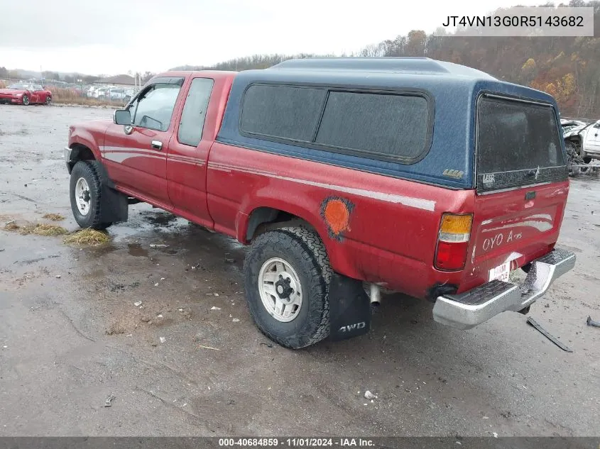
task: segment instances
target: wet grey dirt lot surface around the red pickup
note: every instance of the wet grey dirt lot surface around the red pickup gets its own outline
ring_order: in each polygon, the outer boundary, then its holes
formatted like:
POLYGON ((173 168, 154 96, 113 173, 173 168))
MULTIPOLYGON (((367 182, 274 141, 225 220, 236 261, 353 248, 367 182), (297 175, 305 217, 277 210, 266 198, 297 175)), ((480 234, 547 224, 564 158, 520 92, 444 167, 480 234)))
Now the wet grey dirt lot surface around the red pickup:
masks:
MULTIPOLYGON (((67 127, 110 115, 0 106, 0 227, 77 229, 67 127)), ((285 350, 251 322, 241 245, 146 204, 129 216, 98 248, 0 231, 0 436, 599 435, 598 177, 572 180, 577 265, 530 312, 573 353, 526 316, 458 331, 401 295, 367 336, 285 350)))

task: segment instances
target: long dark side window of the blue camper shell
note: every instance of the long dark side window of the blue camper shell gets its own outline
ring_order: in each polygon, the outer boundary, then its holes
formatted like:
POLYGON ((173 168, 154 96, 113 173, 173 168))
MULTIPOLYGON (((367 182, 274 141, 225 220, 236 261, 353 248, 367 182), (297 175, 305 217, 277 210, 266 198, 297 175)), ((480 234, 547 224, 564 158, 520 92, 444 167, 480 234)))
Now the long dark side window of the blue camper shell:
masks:
POLYGON ((421 160, 430 149, 434 104, 427 92, 295 84, 250 84, 242 135, 388 160, 421 160))

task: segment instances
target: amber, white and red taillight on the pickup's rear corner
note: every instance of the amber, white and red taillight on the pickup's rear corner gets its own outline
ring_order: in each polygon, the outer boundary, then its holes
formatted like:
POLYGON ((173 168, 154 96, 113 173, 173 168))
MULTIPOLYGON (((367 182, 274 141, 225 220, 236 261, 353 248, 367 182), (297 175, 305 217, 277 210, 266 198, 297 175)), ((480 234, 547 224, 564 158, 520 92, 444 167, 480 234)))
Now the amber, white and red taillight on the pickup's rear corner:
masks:
POLYGON ((435 250, 435 267, 438 270, 457 271, 464 268, 472 222, 471 214, 442 215, 435 250))

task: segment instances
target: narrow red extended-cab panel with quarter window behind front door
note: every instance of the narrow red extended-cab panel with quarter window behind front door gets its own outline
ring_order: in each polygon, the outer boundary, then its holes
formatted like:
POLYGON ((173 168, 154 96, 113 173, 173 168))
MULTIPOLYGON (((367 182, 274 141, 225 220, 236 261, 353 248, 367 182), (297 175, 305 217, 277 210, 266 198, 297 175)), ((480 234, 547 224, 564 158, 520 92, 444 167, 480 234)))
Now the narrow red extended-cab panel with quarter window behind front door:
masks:
POLYGON ((204 121, 213 86, 212 78, 192 78, 167 155, 167 186, 175 210, 209 228, 206 172, 214 136, 204 129, 204 121))

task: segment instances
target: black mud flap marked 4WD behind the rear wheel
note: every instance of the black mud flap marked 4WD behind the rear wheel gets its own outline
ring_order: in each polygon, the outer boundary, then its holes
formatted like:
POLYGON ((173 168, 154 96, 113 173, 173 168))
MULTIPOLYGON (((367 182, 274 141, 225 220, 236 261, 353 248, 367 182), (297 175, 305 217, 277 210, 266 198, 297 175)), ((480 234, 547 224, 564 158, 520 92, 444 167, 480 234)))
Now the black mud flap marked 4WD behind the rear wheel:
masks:
POLYGON ((346 340, 371 328, 371 300, 363 283, 334 273, 329 282, 329 339, 346 340))

